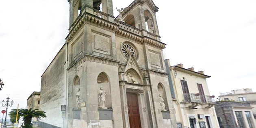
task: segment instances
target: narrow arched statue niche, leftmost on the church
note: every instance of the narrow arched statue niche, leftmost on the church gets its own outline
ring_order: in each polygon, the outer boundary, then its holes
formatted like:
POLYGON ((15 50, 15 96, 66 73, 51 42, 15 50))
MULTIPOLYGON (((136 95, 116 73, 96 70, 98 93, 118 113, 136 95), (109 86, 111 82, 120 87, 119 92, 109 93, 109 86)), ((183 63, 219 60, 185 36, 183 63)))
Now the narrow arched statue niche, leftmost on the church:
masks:
POLYGON ((73 108, 80 108, 80 78, 75 76, 73 80, 73 108))

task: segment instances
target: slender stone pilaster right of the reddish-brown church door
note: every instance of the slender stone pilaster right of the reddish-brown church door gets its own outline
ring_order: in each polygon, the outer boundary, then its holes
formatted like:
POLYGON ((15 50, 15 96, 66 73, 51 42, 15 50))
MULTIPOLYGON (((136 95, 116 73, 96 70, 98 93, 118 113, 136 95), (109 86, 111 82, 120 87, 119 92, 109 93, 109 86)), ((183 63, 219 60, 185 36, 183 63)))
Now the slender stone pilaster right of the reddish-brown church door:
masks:
POLYGON ((148 117, 149 117, 149 121, 150 121, 150 128, 156 128, 156 120, 154 117, 154 108, 153 108, 150 85, 147 85, 145 87, 145 97, 146 97, 146 103, 148 106, 147 109, 148 109, 148 117))

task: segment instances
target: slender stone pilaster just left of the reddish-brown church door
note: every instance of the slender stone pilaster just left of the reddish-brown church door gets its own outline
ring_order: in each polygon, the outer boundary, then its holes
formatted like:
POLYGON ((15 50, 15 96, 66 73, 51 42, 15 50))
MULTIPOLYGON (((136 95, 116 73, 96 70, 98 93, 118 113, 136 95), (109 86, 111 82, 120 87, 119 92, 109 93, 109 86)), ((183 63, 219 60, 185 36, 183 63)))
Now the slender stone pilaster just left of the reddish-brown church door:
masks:
POLYGON ((130 128, 125 82, 126 81, 119 81, 120 96, 121 96, 121 108, 122 108, 122 117, 123 117, 124 128, 130 128))

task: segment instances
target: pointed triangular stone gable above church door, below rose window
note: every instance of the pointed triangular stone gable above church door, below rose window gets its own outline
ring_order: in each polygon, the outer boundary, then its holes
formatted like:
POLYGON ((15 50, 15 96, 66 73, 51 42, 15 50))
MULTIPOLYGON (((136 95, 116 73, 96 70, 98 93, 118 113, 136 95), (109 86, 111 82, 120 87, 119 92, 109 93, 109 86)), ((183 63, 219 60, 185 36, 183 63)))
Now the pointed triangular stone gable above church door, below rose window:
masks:
POLYGON ((133 69, 140 77, 140 82, 137 81, 140 84, 143 84, 143 75, 141 72, 141 69, 139 67, 139 64, 137 63, 135 57, 133 54, 130 54, 130 56, 127 59, 126 66, 124 67, 124 72, 126 73, 129 69, 133 69))

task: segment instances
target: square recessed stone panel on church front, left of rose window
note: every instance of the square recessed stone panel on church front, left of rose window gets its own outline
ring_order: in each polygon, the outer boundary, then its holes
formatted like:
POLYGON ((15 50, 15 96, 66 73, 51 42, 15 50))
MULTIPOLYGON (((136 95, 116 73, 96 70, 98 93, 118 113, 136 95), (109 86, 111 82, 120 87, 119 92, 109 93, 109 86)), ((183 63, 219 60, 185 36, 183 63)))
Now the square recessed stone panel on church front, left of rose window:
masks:
POLYGON ((103 54, 111 54, 111 38, 108 35, 92 32, 94 51, 103 54))

